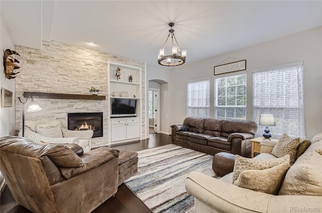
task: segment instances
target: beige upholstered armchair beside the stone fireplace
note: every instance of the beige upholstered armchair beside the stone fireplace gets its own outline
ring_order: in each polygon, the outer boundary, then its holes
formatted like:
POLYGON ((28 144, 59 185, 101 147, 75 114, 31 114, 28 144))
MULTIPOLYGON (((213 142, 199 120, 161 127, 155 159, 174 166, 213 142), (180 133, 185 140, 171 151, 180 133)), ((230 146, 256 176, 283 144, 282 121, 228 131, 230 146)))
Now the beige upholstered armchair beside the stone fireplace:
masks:
MULTIPOLYGON (((93 130, 74 131, 61 127, 58 120, 37 120, 25 122, 25 138, 35 143, 67 144, 75 143, 84 151, 91 150, 93 130)), ((22 136, 20 130, 18 136, 22 136)))

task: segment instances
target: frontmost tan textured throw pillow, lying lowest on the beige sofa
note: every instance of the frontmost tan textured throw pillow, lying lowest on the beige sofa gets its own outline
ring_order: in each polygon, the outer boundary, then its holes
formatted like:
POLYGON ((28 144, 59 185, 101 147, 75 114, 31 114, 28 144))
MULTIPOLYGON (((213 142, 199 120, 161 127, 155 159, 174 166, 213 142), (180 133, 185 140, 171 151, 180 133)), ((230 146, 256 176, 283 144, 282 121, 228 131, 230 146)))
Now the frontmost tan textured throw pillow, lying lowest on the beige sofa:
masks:
POLYGON ((233 184, 254 191, 277 195, 289 168, 289 162, 284 162, 264 170, 244 170, 240 172, 239 177, 233 184))

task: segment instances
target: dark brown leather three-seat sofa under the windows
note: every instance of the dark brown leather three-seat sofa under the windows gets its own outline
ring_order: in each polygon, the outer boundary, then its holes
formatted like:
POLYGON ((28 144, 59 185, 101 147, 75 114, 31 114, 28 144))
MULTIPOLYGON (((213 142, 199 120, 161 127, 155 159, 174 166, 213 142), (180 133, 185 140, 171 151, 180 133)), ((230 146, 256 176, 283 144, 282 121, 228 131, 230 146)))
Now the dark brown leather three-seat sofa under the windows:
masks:
POLYGON ((228 152, 251 157, 251 141, 257 123, 245 120, 185 118, 182 125, 172 125, 172 143, 215 155, 228 152))

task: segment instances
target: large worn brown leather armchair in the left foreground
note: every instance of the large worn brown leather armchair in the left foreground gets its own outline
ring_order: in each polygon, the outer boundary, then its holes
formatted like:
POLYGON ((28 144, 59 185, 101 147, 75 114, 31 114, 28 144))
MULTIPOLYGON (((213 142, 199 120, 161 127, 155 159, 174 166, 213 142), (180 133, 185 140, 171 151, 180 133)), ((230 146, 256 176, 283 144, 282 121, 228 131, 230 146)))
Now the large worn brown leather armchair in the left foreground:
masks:
POLYGON ((116 193, 119 150, 76 153, 65 145, 0 138, 1 172, 17 203, 33 212, 91 212, 116 193))

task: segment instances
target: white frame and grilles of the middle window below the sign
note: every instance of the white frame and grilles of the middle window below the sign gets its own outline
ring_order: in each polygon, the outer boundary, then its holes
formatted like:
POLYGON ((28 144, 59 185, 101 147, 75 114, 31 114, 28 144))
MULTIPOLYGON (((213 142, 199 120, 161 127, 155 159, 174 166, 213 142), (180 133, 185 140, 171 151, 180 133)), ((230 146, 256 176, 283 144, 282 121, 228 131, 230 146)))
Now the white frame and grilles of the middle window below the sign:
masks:
MULTIPOLYGON (((225 95, 225 97, 227 97, 227 85, 225 86, 226 87, 226 95, 225 95)), ((226 99, 226 103, 227 103, 227 99, 226 99)), ((220 75, 220 76, 218 76, 218 77, 216 77, 215 76, 215 79, 214 79, 214 118, 216 118, 216 119, 223 119, 223 120, 227 120, 227 119, 238 119, 238 120, 246 120, 247 119, 247 75, 246 75, 246 71, 244 71, 244 72, 238 72, 238 73, 229 73, 229 74, 226 74, 226 75, 220 75), (224 78, 224 79, 227 79, 227 78, 229 78, 229 77, 233 77, 233 76, 235 76, 235 77, 237 77, 237 76, 241 76, 241 75, 243 75, 243 76, 245 76, 245 80, 246 80, 246 84, 245 84, 245 88, 246 88, 246 90, 245 90, 245 95, 243 95, 243 96, 245 96, 245 105, 237 105, 237 103, 236 103, 236 101, 237 101, 237 84, 235 84, 235 105, 218 105, 218 85, 217 85, 217 80, 219 81, 219 79, 222 79, 222 78, 224 78), (228 109, 228 108, 234 108, 234 116, 227 116, 227 113, 226 113, 226 110, 228 109), (236 109, 237 108, 244 108, 245 109, 245 117, 242 117, 242 118, 240 118, 240 117, 236 117, 236 109), (225 115, 224 115, 224 117, 218 117, 217 116, 217 110, 218 109, 224 109, 225 110, 225 115)))

